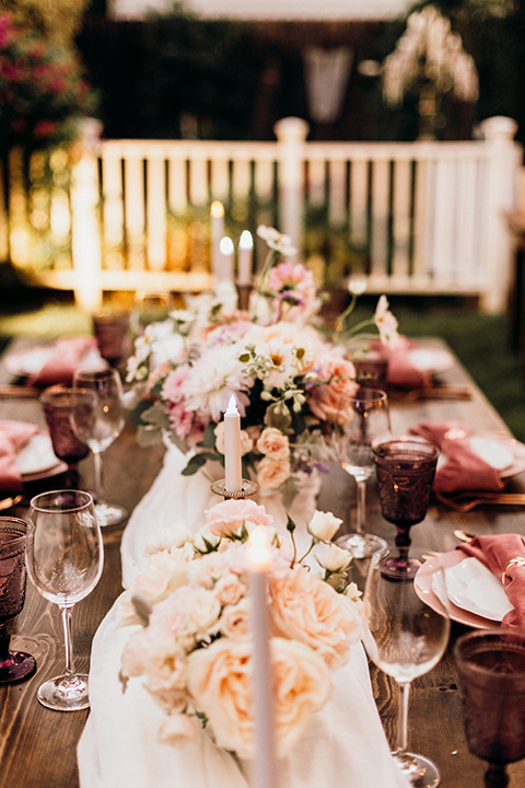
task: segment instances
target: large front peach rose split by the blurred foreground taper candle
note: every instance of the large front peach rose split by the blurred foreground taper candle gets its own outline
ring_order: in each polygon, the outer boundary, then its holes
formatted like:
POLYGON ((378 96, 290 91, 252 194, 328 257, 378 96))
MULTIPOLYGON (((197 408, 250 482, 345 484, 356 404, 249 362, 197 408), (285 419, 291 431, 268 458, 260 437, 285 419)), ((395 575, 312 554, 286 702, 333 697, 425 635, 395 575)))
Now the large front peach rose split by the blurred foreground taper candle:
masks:
MULTIPOLYGON (((252 650, 248 640, 215 640, 188 661, 188 688, 195 708, 210 720, 219 746, 253 757, 252 650)), ((310 725, 331 691, 325 661, 304 644, 271 639, 276 738, 282 757, 310 725)))

